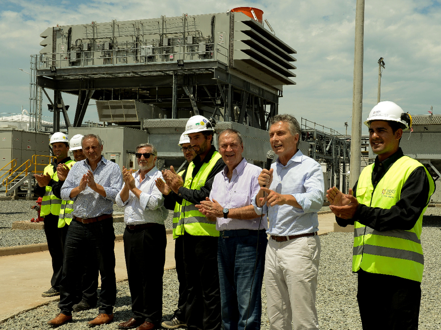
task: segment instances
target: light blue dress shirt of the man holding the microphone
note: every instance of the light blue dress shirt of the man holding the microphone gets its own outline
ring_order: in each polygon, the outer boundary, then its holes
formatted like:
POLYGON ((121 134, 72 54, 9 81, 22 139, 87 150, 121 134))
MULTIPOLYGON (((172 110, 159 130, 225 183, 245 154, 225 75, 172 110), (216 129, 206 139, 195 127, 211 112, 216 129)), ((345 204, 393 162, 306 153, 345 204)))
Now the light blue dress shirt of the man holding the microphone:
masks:
MULTIPOLYGON (((274 169, 273 182, 269 189, 279 194, 291 194, 303 209, 291 205, 263 206, 268 214, 267 234, 276 236, 299 235, 318 231, 317 212, 323 205, 325 184, 320 164, 302 154, 300 150, 292 156, 286 166, 277 159, 271 165, 274 169)), ((262 208, 252 199, 254 210, 262 214, 262 208)))

